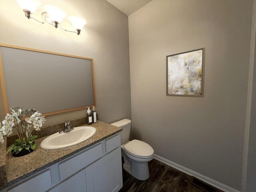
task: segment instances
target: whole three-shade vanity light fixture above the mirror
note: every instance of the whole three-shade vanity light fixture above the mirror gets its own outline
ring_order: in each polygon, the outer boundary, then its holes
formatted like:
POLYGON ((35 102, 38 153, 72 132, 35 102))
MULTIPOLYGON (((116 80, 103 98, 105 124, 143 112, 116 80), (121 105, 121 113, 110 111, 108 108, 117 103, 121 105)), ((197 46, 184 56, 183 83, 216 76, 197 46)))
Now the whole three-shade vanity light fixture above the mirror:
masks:
POLYGON ((62 9, 52 5, 44 5, 43 8, 46 10, 46 12, 42 12, 43 21, 39 21, 32 17, 32 14, 36 11, 36 9, 41 6, 41 2, 39 0, 17 0, 17 3, 24 11, 26 18, 32 18, 42 24, 51 24, 55 28, 59 27, 67 32, 73 32, 80 35, 82 28, 86 24, 86 20, 84 20, 83 18, 77 16, 69 16, 68 19, 70 20, 72 26, 75 28, 76 31, 66 30, 61 26, 63 18, 67 16, 62 9))

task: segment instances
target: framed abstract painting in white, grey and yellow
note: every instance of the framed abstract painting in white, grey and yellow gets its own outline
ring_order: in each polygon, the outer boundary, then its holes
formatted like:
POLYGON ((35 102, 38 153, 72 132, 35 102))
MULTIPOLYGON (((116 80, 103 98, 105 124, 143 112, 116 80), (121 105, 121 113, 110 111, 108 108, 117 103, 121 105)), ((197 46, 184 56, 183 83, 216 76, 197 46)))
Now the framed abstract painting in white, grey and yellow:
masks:
POLYGON ((166 95, 204 96, 204 48, 166 56, 166 95))

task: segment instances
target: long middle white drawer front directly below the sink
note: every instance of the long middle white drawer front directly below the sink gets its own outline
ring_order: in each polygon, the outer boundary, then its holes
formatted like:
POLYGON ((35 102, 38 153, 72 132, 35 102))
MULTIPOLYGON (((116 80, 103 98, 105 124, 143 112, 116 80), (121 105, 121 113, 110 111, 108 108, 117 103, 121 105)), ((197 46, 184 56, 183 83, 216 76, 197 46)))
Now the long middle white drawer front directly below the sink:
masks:
POLYGON ((102 157, 102 144, 90 148, 81 154, 59 164, 60 180, 64 180, 77 173, 92 162, 102 157))

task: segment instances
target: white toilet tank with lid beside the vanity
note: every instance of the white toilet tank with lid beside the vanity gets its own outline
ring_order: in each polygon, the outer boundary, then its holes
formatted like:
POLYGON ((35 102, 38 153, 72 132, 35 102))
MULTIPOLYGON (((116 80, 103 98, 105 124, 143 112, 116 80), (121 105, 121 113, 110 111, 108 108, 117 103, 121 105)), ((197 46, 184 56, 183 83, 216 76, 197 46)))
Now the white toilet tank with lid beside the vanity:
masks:
POLYGON ((131 120, 123 119, 117 122, 112 123, 111 125, 122 128, 123 130, 120 132, 121 136, 121 144, 125 143, 129 140, 130 130, 131 130, 131 120))

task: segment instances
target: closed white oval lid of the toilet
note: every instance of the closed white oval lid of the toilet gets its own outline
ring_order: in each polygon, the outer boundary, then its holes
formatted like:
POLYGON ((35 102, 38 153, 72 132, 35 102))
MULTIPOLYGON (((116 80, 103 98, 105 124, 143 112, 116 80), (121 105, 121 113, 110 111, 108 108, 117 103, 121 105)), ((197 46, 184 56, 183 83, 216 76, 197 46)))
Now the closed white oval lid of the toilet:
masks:
POLYGON ((124 145, 124 149, 136 156, 148 157, 154 154, 154 149, 147 143, 139 140, 132 140, 124 145))

